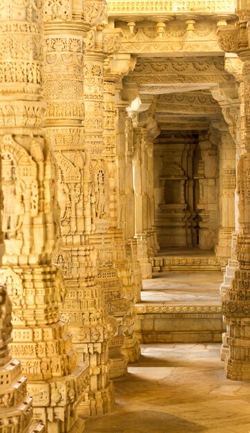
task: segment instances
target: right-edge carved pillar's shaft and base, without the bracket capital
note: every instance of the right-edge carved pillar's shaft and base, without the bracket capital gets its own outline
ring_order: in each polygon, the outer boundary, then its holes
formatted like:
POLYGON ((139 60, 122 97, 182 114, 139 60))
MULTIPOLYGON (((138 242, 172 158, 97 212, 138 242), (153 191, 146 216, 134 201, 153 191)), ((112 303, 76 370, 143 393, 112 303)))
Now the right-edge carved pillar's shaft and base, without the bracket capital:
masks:
MULTIPOLYGON (((250 53, 244 53, 244 93, 250 94, 250 53)), ((249 281, 250 281, 250 116, 249 102, 244 103, 246 127, 245 152, 238 163, 237 189, 239 194, 239 220, 242 232, 238 234, 236 257, 238 269, 222 302, 222 312, 227 323, 227 343, 229 351, 225 356, 227 377, 233 380, 250 378, 250 319, 249 319, 249 281)))

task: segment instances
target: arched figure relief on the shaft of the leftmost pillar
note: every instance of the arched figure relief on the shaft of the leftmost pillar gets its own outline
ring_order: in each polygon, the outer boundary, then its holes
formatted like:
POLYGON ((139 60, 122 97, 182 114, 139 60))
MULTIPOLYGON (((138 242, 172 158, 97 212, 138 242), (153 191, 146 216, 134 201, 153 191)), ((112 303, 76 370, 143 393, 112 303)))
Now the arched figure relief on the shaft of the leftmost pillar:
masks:
MULTIPOLYGON (((35 140, 33 143, 35 148, 35 140)), ((10 135, 3 136, 1 141, 1 165, 6 254, 27 254, 32 248, 33 232, 26 214, 34 217, 39 212, 37 165, 10 135)))

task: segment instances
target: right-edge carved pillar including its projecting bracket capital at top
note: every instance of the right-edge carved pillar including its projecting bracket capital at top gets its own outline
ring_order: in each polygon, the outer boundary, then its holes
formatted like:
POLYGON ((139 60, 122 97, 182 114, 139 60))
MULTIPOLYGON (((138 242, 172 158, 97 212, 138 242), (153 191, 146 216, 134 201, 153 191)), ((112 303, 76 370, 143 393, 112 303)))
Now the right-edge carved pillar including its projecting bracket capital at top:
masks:
POLYGON ((219 28, 219 43, 225 50, 236 52, 244 62, 244 153, 238 163, 237 190, 239 195, 239 223, 242 228, 236 243, 238 268, 232 284, 224 293, 222 313, 227 323, 225 354, 227 377, 233 380, 250 378, 250 50, 249 2, 240 1, 241 21, 239 26, 229 26, 227 32, 219 28))

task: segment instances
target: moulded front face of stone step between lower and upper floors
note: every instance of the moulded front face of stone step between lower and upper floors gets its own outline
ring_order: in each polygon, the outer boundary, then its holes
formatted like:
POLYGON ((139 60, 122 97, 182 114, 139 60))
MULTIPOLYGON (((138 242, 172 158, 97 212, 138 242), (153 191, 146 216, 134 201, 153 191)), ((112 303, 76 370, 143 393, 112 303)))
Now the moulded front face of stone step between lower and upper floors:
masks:
POLYGON ((220 304, 135 305, 141 343, 221 342, 225 331, 220 304))

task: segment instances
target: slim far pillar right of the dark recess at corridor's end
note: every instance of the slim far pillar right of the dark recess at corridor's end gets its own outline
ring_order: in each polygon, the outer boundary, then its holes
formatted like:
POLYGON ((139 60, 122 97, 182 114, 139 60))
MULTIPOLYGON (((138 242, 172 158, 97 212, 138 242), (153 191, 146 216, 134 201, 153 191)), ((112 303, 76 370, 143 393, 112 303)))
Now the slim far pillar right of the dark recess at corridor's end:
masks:
POLYGON ((222 259, 231 256, 231 239, 235 230, 235 143, 231 134, 222 131, 220 158, 220 226, 215 254, 222 259))

